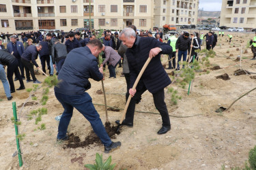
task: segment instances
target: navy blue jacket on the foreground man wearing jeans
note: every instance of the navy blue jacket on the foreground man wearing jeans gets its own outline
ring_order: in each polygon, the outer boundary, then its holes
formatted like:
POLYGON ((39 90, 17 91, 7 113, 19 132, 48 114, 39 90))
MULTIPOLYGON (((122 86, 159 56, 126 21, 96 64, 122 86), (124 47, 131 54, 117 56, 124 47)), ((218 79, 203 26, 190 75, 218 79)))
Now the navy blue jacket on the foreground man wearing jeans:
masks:
POLYGON ((86 47, 76 48, 68 53, 59 71, 59 84, 55 92, 64 95, 81 95, 90 88, 89 78, 100 81, 103 78, 98 68, 97 58, 86 47))

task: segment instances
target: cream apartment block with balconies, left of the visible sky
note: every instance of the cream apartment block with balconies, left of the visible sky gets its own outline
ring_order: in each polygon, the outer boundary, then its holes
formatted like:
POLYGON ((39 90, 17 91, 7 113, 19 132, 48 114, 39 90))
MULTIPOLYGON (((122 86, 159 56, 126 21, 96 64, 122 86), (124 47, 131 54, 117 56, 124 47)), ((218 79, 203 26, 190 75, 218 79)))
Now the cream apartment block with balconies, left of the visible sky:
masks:
POLYGON ((155 0, 154 26, 197 24, 199 0, 155 0))

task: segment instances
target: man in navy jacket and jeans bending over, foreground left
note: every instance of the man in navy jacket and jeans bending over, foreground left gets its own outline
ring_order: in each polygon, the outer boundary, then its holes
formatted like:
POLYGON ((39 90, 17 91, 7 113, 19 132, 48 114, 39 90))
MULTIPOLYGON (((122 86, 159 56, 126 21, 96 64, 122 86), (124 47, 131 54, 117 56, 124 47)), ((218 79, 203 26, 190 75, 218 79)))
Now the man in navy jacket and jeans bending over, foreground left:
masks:
POLYGON ((91 87, 89 78, 96 81, 103 79, 103 69, 98 68, 97 56, 102 52, 102 43, 98 39, 89 41, 86 47, 76 48, 68 53, 66 61, 59 71, 59 84, 55 86, 55 96, 64 108, 59 121, 57 140, 67 140, 68 124, 76 108, 91 123, 94 132, 104 144, 104 152, 121 146, 113 142, 106 133, 100 115, 92 104, 91 97, 85 90, 91 87))

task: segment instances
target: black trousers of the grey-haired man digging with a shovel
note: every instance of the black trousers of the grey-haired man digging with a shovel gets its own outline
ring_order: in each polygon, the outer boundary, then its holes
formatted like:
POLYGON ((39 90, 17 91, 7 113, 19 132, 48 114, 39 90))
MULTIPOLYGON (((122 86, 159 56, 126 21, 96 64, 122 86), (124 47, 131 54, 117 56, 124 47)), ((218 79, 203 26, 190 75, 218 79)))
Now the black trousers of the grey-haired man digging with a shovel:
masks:
MULTIPOLYGON (((145 86, 141 90, 137 90, 134 97, 130 100, 130 104, 128 106, 127 112, 126 112, 126 122, 133 122, 134 119, 134 111, 135 111, 135 104, 136 101, 143 92, 145 92, 147 88, 145 86)), ((169 113, 167 110, 167 106, 165 104, 165 90, 162 88, 158 92, 152 94, 154 98, 154 104, 156 106, 156 109, 158 109, 158 112, 160 112, 160 115, 162 117, 162 126, 171 126, 169 113)))

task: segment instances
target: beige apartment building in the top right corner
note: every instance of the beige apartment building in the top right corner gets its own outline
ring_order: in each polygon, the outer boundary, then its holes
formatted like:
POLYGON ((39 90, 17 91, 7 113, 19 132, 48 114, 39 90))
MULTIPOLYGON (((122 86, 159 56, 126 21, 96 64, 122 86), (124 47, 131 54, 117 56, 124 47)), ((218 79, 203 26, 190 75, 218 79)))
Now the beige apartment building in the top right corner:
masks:
POLYGON ((223 0, 220 25, 256 28, 256 0, 223 0))

